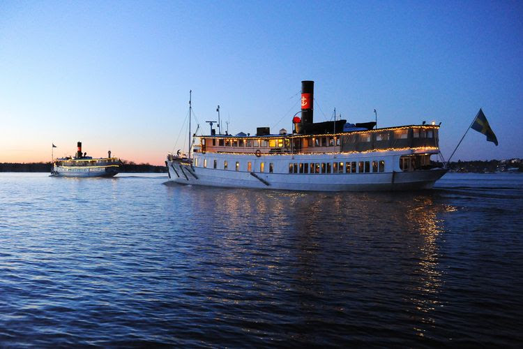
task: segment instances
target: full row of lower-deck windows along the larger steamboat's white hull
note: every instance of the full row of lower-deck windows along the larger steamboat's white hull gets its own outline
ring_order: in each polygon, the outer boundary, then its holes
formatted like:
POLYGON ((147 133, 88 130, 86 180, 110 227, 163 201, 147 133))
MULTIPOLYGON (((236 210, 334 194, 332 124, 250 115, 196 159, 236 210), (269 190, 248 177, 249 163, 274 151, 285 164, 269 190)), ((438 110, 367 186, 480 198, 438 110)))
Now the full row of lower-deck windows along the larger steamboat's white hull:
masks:
MULTIPOLYGON (((198 158, 195 158, 195 166, 198 166, 198 158)), ((207 167, 207 159, 204 158, 203 167, 207 167)), ((218 161, 213 160, 213 168, 218 168, 218 161)), ((229 161, 223 161, 223 170, 229 169, 229 161)), ((335 163, 289 163, 289 173, 372 173, 384 172, 385 161, 347 161, 335 163)), ((240 170, 240 162, 236 161, 234 170, 240 170)), ((252 172, 252 163, 247 162, 247 171, 252 172)), ((273 173, 274 164, 268 163, 268 172, 273 173)), ((265 163, 259 164, 259 172, 265 172, 265 163)))

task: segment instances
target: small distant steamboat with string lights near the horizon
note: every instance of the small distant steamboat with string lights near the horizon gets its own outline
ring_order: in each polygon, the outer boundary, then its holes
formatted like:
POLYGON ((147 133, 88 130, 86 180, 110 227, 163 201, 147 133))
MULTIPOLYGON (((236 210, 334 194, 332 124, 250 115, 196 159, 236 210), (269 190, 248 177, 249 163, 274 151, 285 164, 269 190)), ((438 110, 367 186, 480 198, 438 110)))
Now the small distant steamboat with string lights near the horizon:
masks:
POLYGON ((82 154, 82 142, 77 143, 76 156, 56 158, 51 175, 55 177, 113 177, 118 174, 120 160, 112 158, 109 150, 107 158, 92 158, 82 154))

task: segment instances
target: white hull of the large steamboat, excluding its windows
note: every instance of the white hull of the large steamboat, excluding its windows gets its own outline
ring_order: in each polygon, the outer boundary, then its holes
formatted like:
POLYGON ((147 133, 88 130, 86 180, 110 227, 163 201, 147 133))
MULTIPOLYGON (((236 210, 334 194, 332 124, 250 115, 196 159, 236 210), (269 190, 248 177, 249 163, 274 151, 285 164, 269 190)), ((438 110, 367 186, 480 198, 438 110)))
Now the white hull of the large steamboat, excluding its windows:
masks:
MULTIPOLYGON (((289 163, 293 161, 309 162, 351 162, 371 161, 372 156, 358 154, 344 156, 344 154, 324 156, 230 156, 225 154, 197 154, 199 164, 208 158, 210 164, 214 158, 229 158, 232 169, 220 169, 209 167, 198 167, 190 165, 181 159, 166 161, 169 170, 169 178, 178 184, 191 184, 201 186, 219 186, 228 188, 259 188, 278 189, 290 191, 408 191, 418 189, 430 189, 437 179, 446 173, 444 169, 416 170, 403 172, 400 170, 399 158, 401 154, 388 154, 383 172, 370 173, 285 173, 289 163), (236 171, 234 168, 236 159, 251 162, 254 171, 236 171), (274 172, 257 172, 259 163, 273 163, 274 172)), ((245 167, 245 166, 244 166, 245 167)))

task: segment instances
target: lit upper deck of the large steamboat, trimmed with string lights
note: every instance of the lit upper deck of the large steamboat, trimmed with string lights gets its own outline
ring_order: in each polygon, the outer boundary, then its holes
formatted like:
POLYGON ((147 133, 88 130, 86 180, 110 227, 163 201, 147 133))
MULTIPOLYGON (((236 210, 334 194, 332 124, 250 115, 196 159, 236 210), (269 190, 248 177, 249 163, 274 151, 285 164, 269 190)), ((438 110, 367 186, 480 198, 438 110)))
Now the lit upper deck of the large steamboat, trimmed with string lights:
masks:
POLYGON ((203 135, 195 152, 312 154, 439 149, 439 125, 411 125, 322 135, 203 135))

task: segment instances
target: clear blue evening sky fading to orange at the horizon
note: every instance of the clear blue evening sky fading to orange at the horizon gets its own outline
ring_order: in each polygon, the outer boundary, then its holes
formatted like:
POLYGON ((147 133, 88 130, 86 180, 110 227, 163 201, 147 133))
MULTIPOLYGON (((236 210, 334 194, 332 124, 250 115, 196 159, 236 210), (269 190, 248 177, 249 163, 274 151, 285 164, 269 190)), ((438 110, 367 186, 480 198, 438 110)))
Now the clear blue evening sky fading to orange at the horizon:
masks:
POLYGON ((452 160, 523 158, 522 1, 0 0, 0 163, 107 150, 162 165, 209 134, 314 121, 441 122, 452 160), (228 121, 229 124, 225 124, 228 121))

